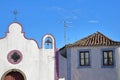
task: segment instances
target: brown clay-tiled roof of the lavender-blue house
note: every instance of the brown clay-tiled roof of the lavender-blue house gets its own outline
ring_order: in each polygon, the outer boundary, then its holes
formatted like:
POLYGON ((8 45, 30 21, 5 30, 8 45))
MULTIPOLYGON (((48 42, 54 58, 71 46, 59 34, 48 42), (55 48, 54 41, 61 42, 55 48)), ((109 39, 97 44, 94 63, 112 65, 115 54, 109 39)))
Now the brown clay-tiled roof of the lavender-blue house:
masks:
POLYGON ((84 46, 120 46, 120 42, 113 41, 104 36, 100 32, 96 32, 88 37, 85 37, 73 44, 67 45, 67 47, 84 47, 84 46))

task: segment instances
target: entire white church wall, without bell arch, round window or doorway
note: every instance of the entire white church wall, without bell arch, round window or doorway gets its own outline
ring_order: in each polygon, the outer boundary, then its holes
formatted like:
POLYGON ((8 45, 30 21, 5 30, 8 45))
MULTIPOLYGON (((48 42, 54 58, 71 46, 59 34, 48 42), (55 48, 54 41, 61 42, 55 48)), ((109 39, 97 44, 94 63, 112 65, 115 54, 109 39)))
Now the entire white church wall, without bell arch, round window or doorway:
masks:
POLYGON ((24 37, 19 23, 12 23, 6 37, 0 39, 0 77, 8 70, 19 69, 27 80, 54 80, 54 55, 54 49, 39 49, 36 41, 24 37), (7 55, 12 50, 22 53, 19 64, 8 62, 7 55))

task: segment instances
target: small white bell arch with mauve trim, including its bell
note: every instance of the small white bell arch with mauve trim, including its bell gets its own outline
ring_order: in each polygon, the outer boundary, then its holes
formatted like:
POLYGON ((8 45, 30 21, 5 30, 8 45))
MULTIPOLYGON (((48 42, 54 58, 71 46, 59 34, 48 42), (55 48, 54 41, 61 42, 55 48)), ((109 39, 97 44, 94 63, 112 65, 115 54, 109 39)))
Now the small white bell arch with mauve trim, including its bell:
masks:
POLYGON ((46 34, 42 39, 43 49, 55 49, 55 39, 51 34, 46 34))

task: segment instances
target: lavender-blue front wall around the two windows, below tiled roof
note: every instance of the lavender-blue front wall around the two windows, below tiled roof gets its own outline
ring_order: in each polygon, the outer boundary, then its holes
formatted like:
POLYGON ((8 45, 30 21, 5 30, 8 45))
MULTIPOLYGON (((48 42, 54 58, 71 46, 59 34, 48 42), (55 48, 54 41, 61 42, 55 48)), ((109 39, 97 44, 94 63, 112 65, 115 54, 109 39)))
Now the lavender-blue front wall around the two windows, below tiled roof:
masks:
POLYGON ((117 47, 81 47, 71 49, 71 80, 118 80, 117 75, 117 47), (102 50, 114 50, 115 66, 102 66, 102 50), (90 51, 90 66, 79 66, 79 51, 90 51))

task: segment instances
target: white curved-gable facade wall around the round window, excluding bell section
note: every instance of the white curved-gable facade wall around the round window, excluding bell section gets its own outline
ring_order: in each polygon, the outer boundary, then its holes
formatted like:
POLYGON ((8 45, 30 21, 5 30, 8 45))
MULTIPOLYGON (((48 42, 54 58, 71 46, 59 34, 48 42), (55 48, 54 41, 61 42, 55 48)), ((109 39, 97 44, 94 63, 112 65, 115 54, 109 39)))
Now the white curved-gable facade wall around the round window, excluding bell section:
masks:
POLYGON ((4 39, 0 40, 0 77, 10 69, 19 69, 24 72, 27 80, 37 80, 39 79, 38 46, 34 40, 27 40, 24 38, 24 34, 21 32, 20 27, 19 24, 10 25, 9 33, 7 33, 4 39), (8 62, 7 56, 12 50, 19 50, 22 53, 23 59, 20 63, 11 64, 8 62))

